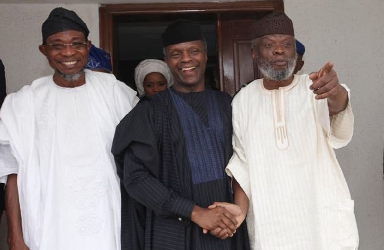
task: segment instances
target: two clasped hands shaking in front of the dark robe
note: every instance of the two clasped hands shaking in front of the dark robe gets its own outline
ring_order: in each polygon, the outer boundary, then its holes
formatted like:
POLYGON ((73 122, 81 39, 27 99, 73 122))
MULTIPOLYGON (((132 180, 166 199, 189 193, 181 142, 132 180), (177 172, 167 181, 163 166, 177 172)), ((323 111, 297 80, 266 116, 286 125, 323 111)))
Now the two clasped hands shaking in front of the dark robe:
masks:
POLYGON ((203 233, 222 240, 232 237, 245 220, 246 211, 240 206, 227 202, 215 202, 208 208, 195 206, 192 221, 203 228, 203 233))

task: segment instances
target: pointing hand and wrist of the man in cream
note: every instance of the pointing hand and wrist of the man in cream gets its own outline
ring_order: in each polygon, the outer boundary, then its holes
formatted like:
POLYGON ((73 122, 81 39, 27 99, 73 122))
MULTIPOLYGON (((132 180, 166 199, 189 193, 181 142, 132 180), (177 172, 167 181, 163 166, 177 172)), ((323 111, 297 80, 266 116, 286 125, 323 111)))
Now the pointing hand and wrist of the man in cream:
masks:
POLYGON ((328 98, 330 115, 338 114, 348 105, 348 92, 340 85, 332 62, 326 63, 318 72, 310 74, 313 84, 310 89, 317 94, 316 99, 328 98))

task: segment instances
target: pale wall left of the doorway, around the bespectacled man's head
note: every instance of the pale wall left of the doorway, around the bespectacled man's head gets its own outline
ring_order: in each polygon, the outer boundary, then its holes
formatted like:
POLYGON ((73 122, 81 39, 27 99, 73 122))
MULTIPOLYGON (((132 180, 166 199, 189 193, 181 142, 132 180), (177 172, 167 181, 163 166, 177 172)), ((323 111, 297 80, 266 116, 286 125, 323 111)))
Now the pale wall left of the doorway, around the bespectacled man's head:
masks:
POLYGON ((38 46, 42 43, 41 24, 55 7, 75 10, 90 30, 88 38, 99 45, 98 4, 0 4, 0 58, 8 93, 53 74, 38 46))

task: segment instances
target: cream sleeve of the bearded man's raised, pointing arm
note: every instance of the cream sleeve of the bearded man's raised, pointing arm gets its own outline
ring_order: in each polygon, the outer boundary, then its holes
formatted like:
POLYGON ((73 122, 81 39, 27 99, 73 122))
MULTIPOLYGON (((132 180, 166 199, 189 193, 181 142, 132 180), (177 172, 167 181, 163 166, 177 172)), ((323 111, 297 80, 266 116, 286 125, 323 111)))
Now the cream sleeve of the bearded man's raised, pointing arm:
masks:
POLYGON ((326 133, 329 145, 332 148, 341 148, 346 146, 352 139, 354 116, 351 106, 351 94, 345 84, 341 84, 348 92, 347 108, 340 113, 330 116, 328 102, 326 99, 316 100, 317 118, 324 132, 326 133))

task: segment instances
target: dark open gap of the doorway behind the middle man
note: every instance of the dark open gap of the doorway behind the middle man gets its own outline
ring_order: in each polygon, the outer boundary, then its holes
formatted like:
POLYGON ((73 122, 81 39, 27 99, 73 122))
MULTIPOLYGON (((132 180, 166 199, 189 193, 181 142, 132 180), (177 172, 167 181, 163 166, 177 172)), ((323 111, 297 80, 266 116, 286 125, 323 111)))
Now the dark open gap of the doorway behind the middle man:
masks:
POLYGON ((216 17, 213 14, 135 15, 115 18, 114 41, 116 41, 116 45, 113 58, 116 77, 136 89, 135 67, 144 59, 163 59, 161 34, 169 23, 181 18, 191 19, 200 24, 208 45, 206 84, 219 89, 216 17))

